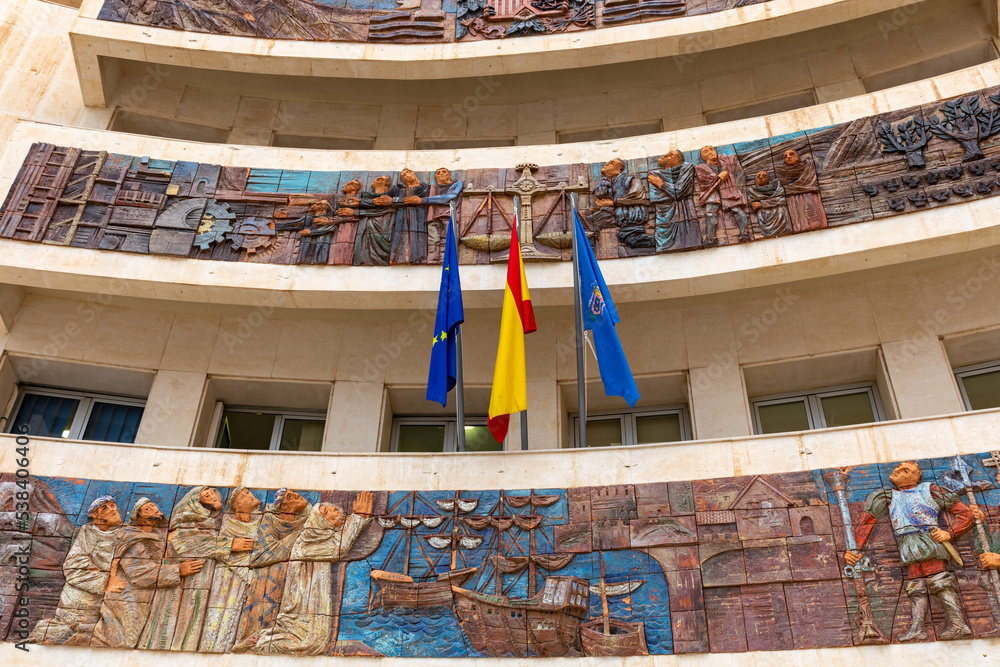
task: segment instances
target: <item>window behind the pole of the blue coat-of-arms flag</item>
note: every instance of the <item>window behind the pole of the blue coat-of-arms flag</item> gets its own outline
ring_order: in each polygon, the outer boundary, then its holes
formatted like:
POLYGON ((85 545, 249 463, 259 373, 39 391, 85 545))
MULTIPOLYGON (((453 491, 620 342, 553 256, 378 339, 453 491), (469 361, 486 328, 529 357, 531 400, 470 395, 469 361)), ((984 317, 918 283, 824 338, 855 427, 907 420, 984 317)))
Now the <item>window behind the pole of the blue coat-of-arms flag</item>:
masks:
MULTIPOLYGON (((572 437, 577 447, 579 424, 580 417, 574 416, 572 437)), ((587 447, 651 445, 690 439, 683 408, 587 415, 587 447)))

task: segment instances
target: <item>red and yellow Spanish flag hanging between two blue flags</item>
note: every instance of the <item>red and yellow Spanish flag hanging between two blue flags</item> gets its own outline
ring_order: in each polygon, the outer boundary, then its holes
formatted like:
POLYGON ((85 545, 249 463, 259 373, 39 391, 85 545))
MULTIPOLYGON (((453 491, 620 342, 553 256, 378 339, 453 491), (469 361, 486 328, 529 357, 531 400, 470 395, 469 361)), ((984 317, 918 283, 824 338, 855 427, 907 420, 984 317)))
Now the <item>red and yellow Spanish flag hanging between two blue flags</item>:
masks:
POLYGON ((500 345, 497 366, 493 371, 490 395, 490 433, 497 442, 507 437, 510 416, 528 409, 528 380, 524 370, 524 335, 534 331, 535 313, 531 309, 528 281, 524 277, 517 216, 510 230, 510 257, 507 259, 507 285, 503 291, 503 315, 500 318, 500 345))

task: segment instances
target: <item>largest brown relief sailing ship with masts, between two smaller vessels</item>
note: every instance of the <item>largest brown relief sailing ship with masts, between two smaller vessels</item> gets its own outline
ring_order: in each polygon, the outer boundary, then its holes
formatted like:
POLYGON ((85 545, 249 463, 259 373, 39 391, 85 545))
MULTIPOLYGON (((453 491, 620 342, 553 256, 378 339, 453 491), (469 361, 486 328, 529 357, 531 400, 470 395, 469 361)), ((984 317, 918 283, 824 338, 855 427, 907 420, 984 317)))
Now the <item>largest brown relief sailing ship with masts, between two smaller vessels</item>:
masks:
POLYGON ((580 623, 587 617, 590 604, 588 582, 578 577, 549 575, 542 589, 535 591, 536 568, 546 571, 560 570, 573 559, 573 554, 544 553, 536 551, 536 531, 542 517, 513 514, 509 508, 544 507, 559 500, 558 496, 535 495, 500 499, 493 511, 486 516, 465 517, 463 521, 477 530, 492 527, 493 538, 489 550, 493 551, 490 563, 493 575, 485 577, 482 590, 452 587, 455 595, 455 613, 469 642, 480 653, 493 657, 563 657, 579 656, 580 623), (518 540, 505 539, 512 528, 528 533, 527 554, 505 554, 509 543, 517 551, 518 540), (527 570, 528 595, 512 598, 504 588, 504 575, 518 575, 527 570), (493 593, 485 592, 490 583, 493 593))

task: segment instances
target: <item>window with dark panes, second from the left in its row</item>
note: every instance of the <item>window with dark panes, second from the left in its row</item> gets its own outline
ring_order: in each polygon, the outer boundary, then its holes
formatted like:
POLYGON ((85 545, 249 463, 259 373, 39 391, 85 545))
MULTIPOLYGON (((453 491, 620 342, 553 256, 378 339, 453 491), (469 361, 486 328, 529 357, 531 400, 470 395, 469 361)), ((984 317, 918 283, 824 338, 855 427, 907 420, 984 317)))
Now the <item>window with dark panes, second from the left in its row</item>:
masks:
POLYGON ((283 452, 318 452, 323 447, 325 416, 312 412, 267 412, 225 408, 215 446, 283 452))

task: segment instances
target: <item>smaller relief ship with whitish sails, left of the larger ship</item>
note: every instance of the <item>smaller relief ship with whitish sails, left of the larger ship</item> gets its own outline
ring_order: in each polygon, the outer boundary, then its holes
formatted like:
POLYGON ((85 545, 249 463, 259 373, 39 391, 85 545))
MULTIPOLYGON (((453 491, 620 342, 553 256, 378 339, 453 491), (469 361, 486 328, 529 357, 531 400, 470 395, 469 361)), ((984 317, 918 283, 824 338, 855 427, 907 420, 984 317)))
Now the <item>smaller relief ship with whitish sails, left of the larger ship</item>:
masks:
POLYGON ((430 608, 448 607, 452 604, 453 585, 460 585, 478 570, 477 567, 458 567, 464 561, 463 549, 475 549, 483 538, 472 534, 460 519, 462 515, 475 511, 478 499, 462 498, 462 492, 453 498, 436 500, 435 505, 447 514, 417 514, 417 504, 424 508, 430 504, 416 491, 406 494, 389 508, 385 516, 376 517, 385 528, 403 529, 399 538, 385 559, 386 563, 402 555, 402 572, 372 570, 371 580, 375 587, 369 607, 393 609, 397 607, 430 608), (399 514, 408 505, 408 514, 399 514), (445 533, 420 533, 418 528, 444 528, 445 533), (416 539, 414 539, 416 534, 416 539), (432 548, 424 545, 424 541, 432 548), (416 552, 418 562, 414 564, 416 552), (450 568, 438 574, 445 555, 450 555, 450 568))

